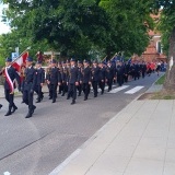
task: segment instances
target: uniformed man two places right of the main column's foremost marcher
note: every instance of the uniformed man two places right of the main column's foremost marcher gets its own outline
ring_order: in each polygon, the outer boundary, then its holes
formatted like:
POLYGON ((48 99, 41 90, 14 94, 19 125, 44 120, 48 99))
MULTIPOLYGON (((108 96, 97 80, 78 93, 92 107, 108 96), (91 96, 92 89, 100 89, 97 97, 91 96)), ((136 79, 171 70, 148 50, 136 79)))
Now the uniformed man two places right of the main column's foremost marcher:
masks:
POLYGON ((97 61, 93 61, 93 67, 92 67, 92 86, 94 91, 94 97, 97 97, 97 85, 100 82, 100 67, 97 66, 97 61))

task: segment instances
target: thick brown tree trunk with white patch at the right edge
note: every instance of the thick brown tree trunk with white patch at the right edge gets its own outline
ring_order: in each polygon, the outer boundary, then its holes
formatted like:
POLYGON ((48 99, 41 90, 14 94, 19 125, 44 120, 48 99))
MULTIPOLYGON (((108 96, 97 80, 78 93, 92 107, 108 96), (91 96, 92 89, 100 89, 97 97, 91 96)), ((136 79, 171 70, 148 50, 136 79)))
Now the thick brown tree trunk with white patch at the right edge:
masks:
POLYGON ((170 37, 168 62, 163 88, 165 91, 175 91, 175 27, 170 37))

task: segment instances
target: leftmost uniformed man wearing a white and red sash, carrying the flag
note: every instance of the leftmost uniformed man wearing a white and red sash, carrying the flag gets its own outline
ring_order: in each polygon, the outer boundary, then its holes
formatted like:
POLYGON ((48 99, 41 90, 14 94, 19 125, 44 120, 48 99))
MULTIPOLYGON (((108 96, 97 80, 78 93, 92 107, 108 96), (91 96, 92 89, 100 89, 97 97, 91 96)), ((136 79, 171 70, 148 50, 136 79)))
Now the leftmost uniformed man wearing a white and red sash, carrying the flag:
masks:
MULTIPOLYGON (((11 62, 12 62, 12 59, 11 58, 7 58, 5 68, 0 73, 0 74, 4 73, 4 77, 5 77, 4 95, 5 95, 5 100, 9 102, 9 109, 8 109, 8 113, 4 116, 10 116, 12 113, 14 113, 18 109, 18 107, 14 104, 14 88, 15 88, 14 80, 18 81, 19 90, 21 90, 20 75, 18 74, 15 69, 11 66, 11 62)), ((0 108, 2 106, 0 106, 0 108)))

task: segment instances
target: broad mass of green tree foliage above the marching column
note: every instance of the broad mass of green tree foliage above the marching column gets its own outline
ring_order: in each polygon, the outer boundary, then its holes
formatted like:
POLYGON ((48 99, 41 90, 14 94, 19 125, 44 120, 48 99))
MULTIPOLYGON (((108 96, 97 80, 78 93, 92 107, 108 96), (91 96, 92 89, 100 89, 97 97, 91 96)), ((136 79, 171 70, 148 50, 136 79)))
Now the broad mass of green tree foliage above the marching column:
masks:
POLYGON ((152 1, 3 0, 14 33, 31 44, 47 42, 62 56, 141 55, 148 43, 152 1), (18 32, 16 32, 18 31, 18 32))

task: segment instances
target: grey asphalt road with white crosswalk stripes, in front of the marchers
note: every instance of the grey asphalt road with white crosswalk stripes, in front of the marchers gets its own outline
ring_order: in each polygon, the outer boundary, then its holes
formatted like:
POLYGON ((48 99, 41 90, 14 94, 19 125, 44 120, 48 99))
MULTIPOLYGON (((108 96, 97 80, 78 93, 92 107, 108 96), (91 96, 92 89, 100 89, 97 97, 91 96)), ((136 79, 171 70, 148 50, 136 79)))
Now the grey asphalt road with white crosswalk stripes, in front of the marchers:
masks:
POLYGON ((27 108, 21 97, 15 98, 19 109, 9 117, 4 117, 7 102, 0 98, 4 104, 0 110, 0 174, 48 175, 156 79, 152 74, 131 81, 122 90, 115 88, 114 93, 97 98, 91 94, 88 102, 79 97, 73 106, 60 96, 51 104, 45 94, 30 119, 24 118, 27 108))

